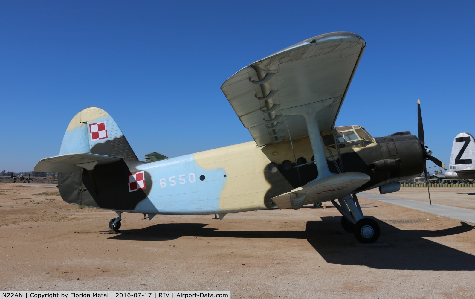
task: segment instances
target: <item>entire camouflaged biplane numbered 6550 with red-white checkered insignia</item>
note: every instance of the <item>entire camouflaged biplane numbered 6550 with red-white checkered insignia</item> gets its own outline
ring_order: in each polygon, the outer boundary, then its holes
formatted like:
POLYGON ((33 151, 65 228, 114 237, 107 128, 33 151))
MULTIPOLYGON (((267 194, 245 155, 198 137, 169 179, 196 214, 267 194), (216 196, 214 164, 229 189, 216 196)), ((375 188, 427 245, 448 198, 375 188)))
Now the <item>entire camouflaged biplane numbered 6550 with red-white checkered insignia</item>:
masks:
MULTIPOLYGON (((71 120, 59 155, 42 159, 35 171, 58 172, 66 202, 117 212, 109 222, 115 232, 122 212, 143 213, 144 219, 157 214, 222 219, 227 213, 332 201, 345 230, 374 242, 380 227, 363 216, 355 193, 395 192, 399 181, 426 170, 427 159, 443 164, 424 145, 419 103, 419 137, 405 131, 373 138, 358 125, 335 127, 365 47, 350 32, 323 34, 226 80, 221 89, 252 142, 176 158, 154 153, 142 162, 114 119, 91 107, 71 120)), ((130 122, 137 117, 130 114, 130 122)))

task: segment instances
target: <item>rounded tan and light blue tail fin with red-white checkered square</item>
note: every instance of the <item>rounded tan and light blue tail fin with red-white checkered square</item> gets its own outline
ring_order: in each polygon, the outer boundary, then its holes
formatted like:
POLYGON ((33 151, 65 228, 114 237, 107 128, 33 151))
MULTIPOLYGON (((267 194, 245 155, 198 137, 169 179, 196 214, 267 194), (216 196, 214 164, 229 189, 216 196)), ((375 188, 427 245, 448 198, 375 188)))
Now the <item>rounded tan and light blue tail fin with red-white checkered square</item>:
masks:
POLYGON ((91 153, 137 160, 114 119, 104 110, 90 107, 67 126, 59 154, 91 153))

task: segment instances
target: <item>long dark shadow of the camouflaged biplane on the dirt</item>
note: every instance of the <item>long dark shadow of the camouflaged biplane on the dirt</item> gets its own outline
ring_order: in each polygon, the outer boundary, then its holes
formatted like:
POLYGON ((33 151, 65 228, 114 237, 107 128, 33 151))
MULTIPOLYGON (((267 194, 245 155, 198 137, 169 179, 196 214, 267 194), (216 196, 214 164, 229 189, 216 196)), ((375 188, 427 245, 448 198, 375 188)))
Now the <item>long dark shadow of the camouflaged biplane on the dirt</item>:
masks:
MULTIPOLYGON (((206 223, 162 223, 110 237, 127 241, 169 241, 182 236, 212 238, 304 239, 328 263, 364 265, 393 270, 475 270, 475 256, 425 237, 442 237, 473 230, 464 222, 444 230, 400 230, 379 220, 379 241, 389 246, 356 246, 352 233, 342 232, 339 216, 307 222, 304 231, 220 231, 206 223)), ((298 251, 292 248, 290 250, 298 251)))

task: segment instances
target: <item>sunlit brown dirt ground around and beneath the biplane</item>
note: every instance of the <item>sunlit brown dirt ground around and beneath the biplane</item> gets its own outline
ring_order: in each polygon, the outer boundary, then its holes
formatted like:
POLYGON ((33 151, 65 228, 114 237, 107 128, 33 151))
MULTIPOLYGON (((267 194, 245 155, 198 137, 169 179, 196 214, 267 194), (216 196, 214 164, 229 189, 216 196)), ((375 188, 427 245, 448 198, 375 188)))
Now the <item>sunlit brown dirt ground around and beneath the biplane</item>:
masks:
MULTIPOLYGON (((0 183, 0 290, 230 290, 231 298, 474 298, 474 223, 360 197, 380 246, 326 209, 207 216, 79 208, 56 189, 0 183)), ((44 186, 51 186, 45 184, 44 186)), ((54 185, 53 185, 54 186, 54 185)), ((427 200, 425 188, 389 196, 427 200), (418 199, 419 198, 419 199, 418 199)), ((475 188, 431 188, 474 209, 475 188)), ((475 211, 474 211, 475 212, 475 211)))

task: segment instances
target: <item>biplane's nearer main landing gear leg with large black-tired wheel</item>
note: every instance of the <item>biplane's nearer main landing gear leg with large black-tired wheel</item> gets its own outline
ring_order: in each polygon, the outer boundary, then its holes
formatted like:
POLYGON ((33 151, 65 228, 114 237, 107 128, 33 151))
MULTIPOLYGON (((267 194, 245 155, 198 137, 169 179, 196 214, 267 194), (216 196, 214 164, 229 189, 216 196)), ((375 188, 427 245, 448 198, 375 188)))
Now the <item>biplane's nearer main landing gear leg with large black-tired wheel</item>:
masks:
POLYGON ((342 213, 342 228, 352 232, 356 240, 361 243, 373 243, 380 237, 380 226, 371 218, 366 218, 361 212, 358 197, 346 195, 338 199, 338 203, 332 200, 333 205, 342 213))

